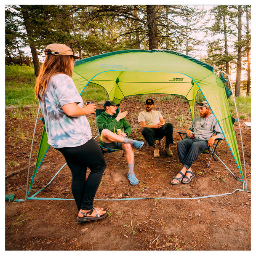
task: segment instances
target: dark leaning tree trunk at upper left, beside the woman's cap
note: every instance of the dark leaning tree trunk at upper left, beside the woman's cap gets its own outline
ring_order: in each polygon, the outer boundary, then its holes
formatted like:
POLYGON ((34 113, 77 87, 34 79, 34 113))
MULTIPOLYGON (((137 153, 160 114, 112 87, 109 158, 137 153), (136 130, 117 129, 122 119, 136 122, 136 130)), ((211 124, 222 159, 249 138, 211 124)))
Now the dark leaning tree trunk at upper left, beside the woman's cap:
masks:
POLYGON ((23 15, 25 28, 27 31, 27 37, 29 40, 29 47, 32 54, 32 59, 34 63, 35 75, 38 76, 40 70, 40 62, 37 55, 37 50, 35 47, 35 43, 33 41, 33 29, 30 27, 29 13, 27 11, 27 5, 21 5, 21 13, 23 15))

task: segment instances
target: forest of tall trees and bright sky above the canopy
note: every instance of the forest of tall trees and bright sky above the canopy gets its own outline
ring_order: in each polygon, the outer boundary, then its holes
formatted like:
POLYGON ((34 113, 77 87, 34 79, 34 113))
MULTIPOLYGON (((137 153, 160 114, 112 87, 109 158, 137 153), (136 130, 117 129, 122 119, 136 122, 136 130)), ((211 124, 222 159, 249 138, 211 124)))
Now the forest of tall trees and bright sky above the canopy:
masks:
POLYGON ((5 65, 33 66, 37 76, 51 43, 82 58, 177 51, 230 75, 235 96, 250 95, 251 5, 5 5, 5 65))

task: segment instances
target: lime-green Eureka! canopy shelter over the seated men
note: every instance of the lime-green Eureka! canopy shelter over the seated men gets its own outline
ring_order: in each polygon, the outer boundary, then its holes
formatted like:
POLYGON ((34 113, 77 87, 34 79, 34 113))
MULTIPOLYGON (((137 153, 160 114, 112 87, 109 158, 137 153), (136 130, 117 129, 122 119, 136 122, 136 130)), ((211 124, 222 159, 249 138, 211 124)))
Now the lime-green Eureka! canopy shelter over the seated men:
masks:
MULTIPOLYGON (((213 71, 210 65, 174 51, 125 50, 75 61, 72 79, 77 87, 83 88, 81 93, 88 83, 102 86, 109 100, 117 104, 126 96, 138 94, 181 95, 188 101, 192 118, 196 95, 201 91, 220 125, 246 186, 233 127, 234 119, 228 104, 228 97, 232 93, 224 85, 224 77, 218 77, 213 71)), ((42 160, 37 159, 39 165, 42 160)))

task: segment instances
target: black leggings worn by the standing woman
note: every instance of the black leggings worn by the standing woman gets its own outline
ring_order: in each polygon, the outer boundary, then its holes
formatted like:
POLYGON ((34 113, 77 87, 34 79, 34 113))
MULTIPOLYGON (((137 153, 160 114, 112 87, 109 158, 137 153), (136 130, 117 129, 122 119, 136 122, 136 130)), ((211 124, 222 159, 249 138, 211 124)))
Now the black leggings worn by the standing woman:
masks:
POLYGON ((71 189, 78 210, 90 210, 101 182, 106 163, 99 145, 93 139, 78 147, 58 149, 72 173, 71 189), (87 167, 91 172, 85 179, 87 167))

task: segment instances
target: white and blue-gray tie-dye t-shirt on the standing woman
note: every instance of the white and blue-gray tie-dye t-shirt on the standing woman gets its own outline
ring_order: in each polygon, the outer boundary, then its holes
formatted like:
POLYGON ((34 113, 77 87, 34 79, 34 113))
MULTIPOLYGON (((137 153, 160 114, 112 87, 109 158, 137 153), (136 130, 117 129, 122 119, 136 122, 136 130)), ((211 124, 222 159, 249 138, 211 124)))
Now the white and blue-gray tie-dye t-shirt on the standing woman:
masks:
POLYGON ((62 106, 77 103, 83 107, 83 99, 68 75, 58 74, 51 77, 46 91, 39 101, 45 119, 48 144, 54 148, 77 147, 92 138, 91 127, 87 118, 69 117, 62 106))

